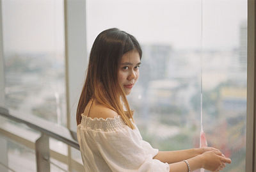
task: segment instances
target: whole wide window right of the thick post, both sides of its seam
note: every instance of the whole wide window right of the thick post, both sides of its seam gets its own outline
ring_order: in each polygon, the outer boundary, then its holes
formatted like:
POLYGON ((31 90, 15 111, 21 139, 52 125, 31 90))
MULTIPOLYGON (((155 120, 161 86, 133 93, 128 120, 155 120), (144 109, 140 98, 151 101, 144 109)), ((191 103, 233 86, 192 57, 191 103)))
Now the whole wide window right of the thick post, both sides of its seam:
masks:
POLYGON ((88 50, 110 27, 143 48, 140 79, 128 96, 143 139, 159 150, 199 147, 202 66, 208 145, 233 160, 223 171, 244 171, 247 1, 86 3, 88 50))

